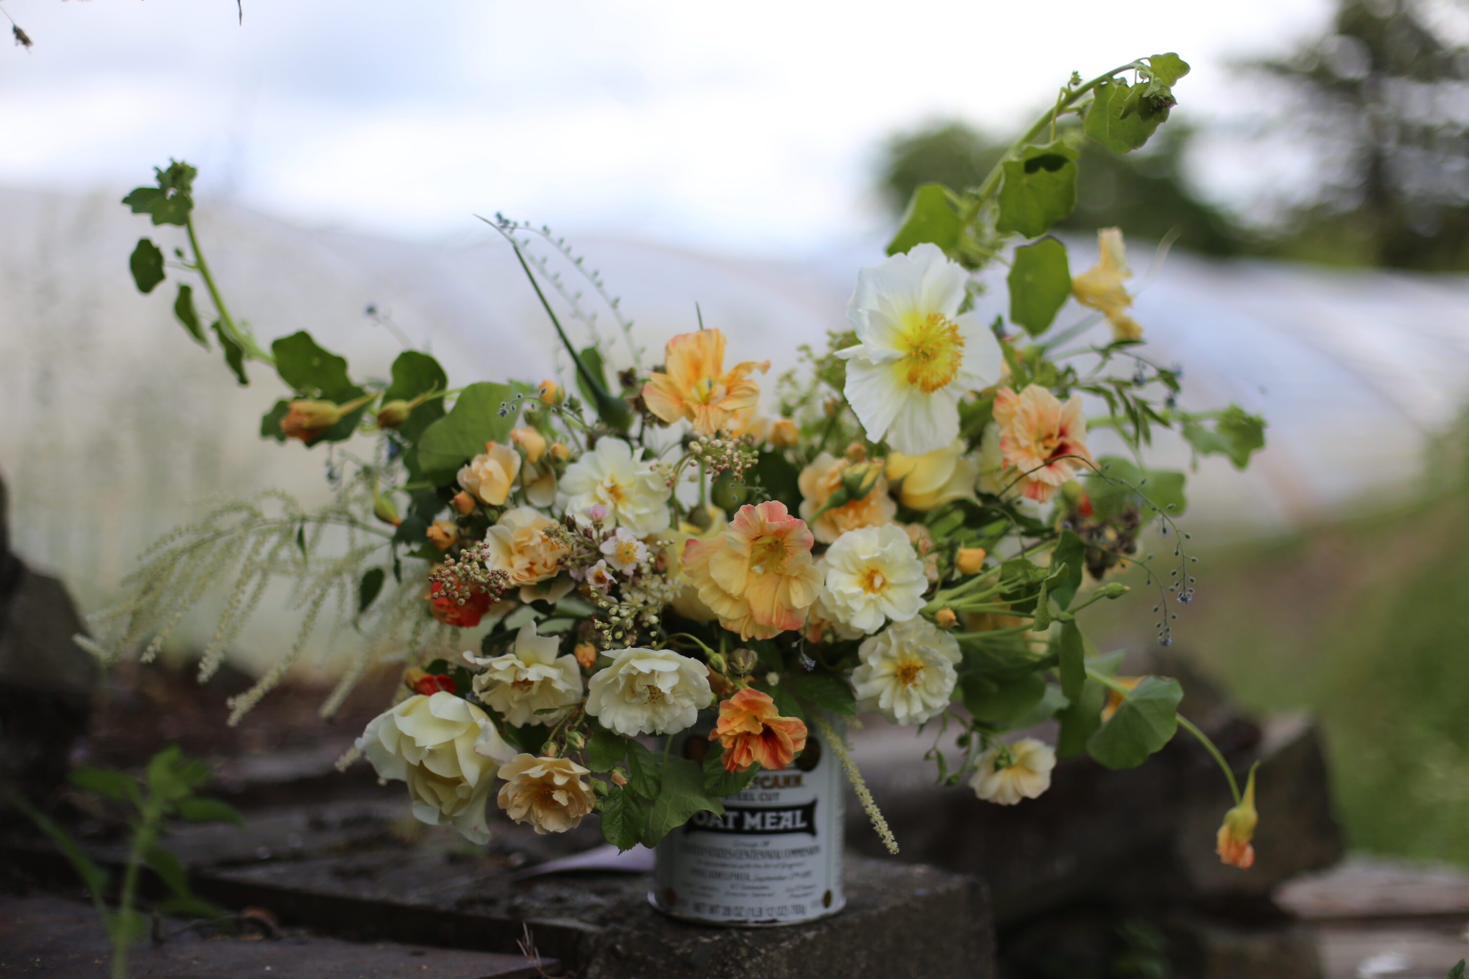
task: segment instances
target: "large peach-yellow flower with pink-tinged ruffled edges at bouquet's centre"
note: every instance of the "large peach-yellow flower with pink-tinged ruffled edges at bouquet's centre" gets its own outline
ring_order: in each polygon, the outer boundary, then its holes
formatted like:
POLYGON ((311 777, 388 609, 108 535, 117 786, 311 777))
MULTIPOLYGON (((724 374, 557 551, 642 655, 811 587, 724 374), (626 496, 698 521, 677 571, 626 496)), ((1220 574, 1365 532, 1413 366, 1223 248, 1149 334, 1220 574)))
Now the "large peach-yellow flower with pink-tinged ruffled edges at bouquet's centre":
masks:
POLYGON ((821 592, 811 530, 780 501, 746 503, 723 533, 683 545, 683 568, 720 625, 740 638, 801 628, 821 592))

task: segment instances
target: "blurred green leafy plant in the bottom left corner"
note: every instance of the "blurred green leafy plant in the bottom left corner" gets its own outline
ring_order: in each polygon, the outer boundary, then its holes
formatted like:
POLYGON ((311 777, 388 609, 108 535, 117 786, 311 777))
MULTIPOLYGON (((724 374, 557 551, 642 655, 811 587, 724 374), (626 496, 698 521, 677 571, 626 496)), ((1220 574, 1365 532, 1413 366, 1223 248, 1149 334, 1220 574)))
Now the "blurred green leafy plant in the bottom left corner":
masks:
POLYGON ((68 775, 76 788, 119 803, 131 804, 134 815, 128 825, 132 837, 128 844, 128 862, 123 866, 122 885, 116 892, 116 906, 107 904, 109 873, 97 865, 87 851, 57 826, 41 810, 22 796, 6 793, 7 801, 29 816, 56 848, 71 862, 76 875, 87 885, 97 909, 97 916, 107 928, 112 941, 112 976, 126 979, 128 951, 131 945, 148 933, 150 917, 138 911, 138 881, 144 866, 157 875, 167 888, 167 897, 154 904, 154 914, 182 914, 187 917, 214 919, 225 910, 200 898, 190 889, 188 872, 176 856, 159 842, 165 822, 184 819, 187 822, 231 822, 241 825, 239 813, 217 798, 195 796, 194 790, 209 781, 209 766, 188 759, 178 746, 169 746, 153 756, 140 782, 134 776, 106 768, 79 768, 68 775))

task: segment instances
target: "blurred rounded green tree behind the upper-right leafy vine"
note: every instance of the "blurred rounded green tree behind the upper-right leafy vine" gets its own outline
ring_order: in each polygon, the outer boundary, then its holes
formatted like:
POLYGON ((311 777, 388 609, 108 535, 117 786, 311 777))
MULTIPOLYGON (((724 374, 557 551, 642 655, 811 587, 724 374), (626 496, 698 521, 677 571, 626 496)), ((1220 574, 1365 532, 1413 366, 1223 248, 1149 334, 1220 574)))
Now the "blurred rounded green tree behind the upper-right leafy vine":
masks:
MULTIPOLYGON (((1191 132, 1172 122, 1144 150, 1116 154, 1075 126, 1068 135, 1081 148, 1077 210, 1059 228, 1090 230, 1122 228, 1128 236, 1159 241, 1169 230, 1193 251, 1232 255, 1246 247, 1241 232, 1215 207, 1199 200, 1183 178, 1183 157, 1191 132)), ((893 213, 902 213, 920 183, 974 186, 999 160, 1008 142, 990 139, 964 122, 943 122, 889 139, 880 186, 893 213)))

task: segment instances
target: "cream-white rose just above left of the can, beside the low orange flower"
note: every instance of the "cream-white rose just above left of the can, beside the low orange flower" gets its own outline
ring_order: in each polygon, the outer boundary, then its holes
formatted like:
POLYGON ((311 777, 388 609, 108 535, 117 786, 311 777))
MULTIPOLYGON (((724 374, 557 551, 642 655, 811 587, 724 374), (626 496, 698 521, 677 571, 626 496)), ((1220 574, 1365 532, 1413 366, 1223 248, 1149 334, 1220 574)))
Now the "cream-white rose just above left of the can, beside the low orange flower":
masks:
POLYGON ((623 649, 608 653, 611 666, 592 677, 586 712, 608 731, 673 734, 714 702, 704 663, 667 649, 623 649))

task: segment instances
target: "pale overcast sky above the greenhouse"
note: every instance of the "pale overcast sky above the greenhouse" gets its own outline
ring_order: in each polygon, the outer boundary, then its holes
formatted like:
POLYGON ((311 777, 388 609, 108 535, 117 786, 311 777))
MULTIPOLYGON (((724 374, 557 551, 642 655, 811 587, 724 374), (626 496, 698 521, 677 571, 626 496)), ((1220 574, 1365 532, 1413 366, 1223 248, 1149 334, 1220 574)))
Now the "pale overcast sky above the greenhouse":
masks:
MULTIPOLYGON (((142 182, 311 225, 473 233, 474 211, 726 252, 806 252, 884 219, 883 138, 1008 129, 1071 69, 1177 50, 1181 114, 1231 104, 1230 59, 1329 0, 0 0, 0 183, 142 182), (6 25, 9 26, 9 25, 6 25)), ((1230 179, 1216 167, 1209 179, 1230 179)), ((1257 169, 1257 167, 1250 167, 1257 169)))

